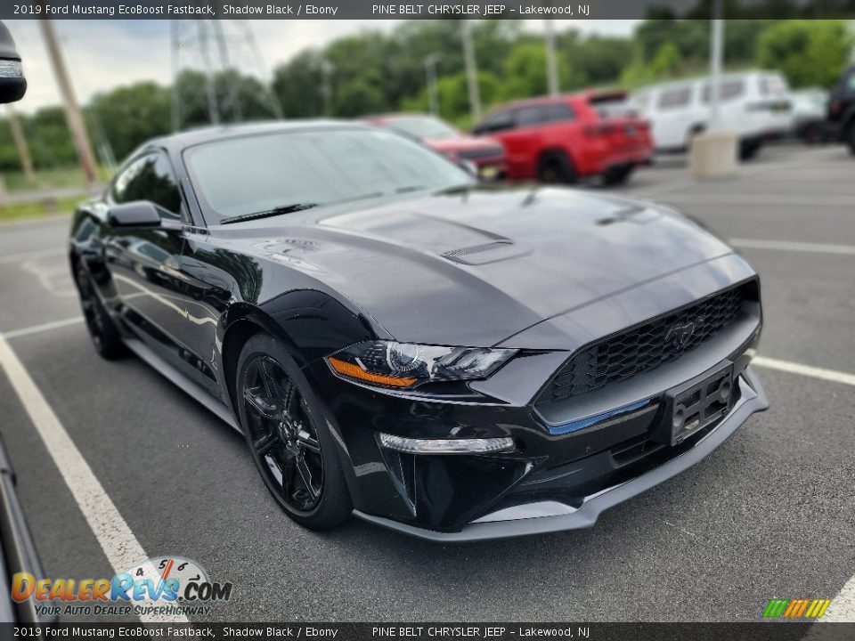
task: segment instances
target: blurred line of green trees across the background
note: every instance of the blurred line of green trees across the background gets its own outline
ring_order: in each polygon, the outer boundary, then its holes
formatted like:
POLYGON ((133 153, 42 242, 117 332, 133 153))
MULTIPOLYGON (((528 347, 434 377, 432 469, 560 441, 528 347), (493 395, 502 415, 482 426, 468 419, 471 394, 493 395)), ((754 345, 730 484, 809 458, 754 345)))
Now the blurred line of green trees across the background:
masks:
MULTIPOLYGON (((556 37, 562 91, 589 86, 635 88, 666 78, 703 74, 709 57, 709 20, 680 20, 652 14, 631 36, 556 37)), ((728 20, 725 64, 729 69, 779 69, 794 88, 834 85, 849 60, 852 37, 844 20, 728 20)), ((503 101, 547 91, 543 39, 517 20, 480 20, 473 25, 481 101, 488 108, 503 101)), ((440 115, 467 127, 468 89, 455 20, 412 20, 390 32, 364 30, 323 47, 306 49, 273 69, 272 90, 285 118, 354 118, 388 111, 427 111, 425 60, 437 55, 440 115), (324 91, 324 80, 329 91, 324 91)), ((182 97, 182 125, 208 124, 205 77, 184 71, 176 79, 182 97)), ((230 69, 214 78, 220 104, 237 96, 240 118, 272 118, 260 81, 230 69)), ((109 142, 124 158, 145 140, 172 130, 173 87, 154 82, 120 86, 85 105, 95 148, 109 142)), ((229 122, 236 113, 225 109, 229 122)), ((37 169, 76 162, 61 107, 22 116, 37 169)), ((20 170, 9 123, 0 118, 0 171, 20 170)))

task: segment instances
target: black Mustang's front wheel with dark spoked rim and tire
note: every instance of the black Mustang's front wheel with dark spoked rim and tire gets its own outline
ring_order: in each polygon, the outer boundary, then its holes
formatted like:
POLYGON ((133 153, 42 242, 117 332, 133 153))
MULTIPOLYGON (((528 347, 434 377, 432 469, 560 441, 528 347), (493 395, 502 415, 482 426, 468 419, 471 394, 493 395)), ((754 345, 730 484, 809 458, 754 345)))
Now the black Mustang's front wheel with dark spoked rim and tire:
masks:
POLYGON ((273 499, 310 530, 344 523, 353 505, 336 442, 289 351, 267 334, 250 337, 235 382, 240 427, 273 499))

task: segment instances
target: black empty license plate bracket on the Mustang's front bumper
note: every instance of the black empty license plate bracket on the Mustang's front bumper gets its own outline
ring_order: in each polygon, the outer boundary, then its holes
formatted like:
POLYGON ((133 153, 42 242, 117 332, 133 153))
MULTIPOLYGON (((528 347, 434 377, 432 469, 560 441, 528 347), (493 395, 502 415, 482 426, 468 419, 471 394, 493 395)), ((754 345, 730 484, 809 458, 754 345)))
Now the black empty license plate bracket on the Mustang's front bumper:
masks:
POLYGON ((730 361, 725 361, 712 374, 704 373, 668 390, 665 419, 669 421, 671 444, 680 444, 725 416, 733 404, 733 396, 733 363, 730 361))

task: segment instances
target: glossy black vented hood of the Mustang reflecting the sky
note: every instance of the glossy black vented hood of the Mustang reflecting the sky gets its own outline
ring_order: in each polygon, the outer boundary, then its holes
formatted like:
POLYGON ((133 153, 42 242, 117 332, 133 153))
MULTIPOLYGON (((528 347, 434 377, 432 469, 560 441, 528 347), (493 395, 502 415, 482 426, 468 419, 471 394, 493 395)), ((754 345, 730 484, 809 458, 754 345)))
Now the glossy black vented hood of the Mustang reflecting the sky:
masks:
POLYGON ((731 253, 662 208, 565 189, 398 199, 257 232, 256 250, 287 255, 397 340, 439 345, 496 345, 731 253))

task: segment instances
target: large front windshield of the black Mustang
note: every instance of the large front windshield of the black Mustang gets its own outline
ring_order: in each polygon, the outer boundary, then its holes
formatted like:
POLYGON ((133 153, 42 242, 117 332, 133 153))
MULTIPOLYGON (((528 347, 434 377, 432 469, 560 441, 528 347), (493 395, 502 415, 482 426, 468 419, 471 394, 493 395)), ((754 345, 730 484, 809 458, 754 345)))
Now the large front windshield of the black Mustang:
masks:
POLYGON ((325 129, 228 138, 184 153, 203 203, 222 219, 474 183, 399 134, 325 129))

